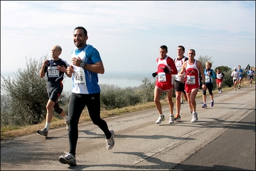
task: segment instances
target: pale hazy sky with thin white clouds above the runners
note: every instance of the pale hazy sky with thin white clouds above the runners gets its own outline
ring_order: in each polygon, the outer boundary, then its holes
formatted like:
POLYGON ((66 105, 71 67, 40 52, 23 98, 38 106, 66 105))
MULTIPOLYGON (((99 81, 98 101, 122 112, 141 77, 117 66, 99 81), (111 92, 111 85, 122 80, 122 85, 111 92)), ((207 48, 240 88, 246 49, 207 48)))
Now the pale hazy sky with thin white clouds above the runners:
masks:
POLYGON ((160 45, 212 56, 213 66, 255 66, 255 1, 1 1, 1 74, 62 47, 71 62, 83 26, 105 72, 155 72, 160 45))

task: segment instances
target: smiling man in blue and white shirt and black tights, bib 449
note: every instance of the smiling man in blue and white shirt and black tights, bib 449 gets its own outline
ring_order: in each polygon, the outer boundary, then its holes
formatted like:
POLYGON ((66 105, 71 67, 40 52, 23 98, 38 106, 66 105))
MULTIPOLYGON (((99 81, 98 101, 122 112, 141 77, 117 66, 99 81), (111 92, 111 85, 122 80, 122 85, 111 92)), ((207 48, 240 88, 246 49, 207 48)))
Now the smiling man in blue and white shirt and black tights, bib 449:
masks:
POLYGON ((78 122, 85 106, 92 122, 105 134, 107 149, 114 147, 114 131, 108 129, 107 122, 100 117, 100 88, 98 73, 104 74, 105 69, 99 52, 87 44, 87 30, 76 27, 73 32, 76 49, 72 52, 72 65, 67 73, 73 73, 73 89, 69 100, 69 152, 60 156, 60 163, 76 165, 76 144, 78 142, 78 122))

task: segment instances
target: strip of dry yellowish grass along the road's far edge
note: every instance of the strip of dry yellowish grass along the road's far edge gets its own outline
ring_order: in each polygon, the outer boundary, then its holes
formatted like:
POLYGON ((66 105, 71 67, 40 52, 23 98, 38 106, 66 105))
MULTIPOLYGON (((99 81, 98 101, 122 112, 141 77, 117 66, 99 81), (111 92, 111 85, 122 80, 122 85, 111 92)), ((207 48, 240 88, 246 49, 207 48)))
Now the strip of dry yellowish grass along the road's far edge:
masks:
MULTIPOLYGON (((253 80, 253 84, 255 84, 255 80, 253 80)), ((244 85, 250 85, 249 81, 242 81, 241 86, 244 85)), ((222 88, 222 91, 228 91, 228 90, 233 90, 234 87, 225 87, 222 88)), ((218 93, 218 90, 214 90, 213 91, 214 94, 218 93)), ((198 92, 198 95, 196 95, 196 97, 202 97, 203 93, 201 91, 198 92)), ((175 98, 173 98, 173 102, 175 102, 175 98)), ((162 100, 161 101, 162 106, 167 105, 167 100, 162 100)), ((124 115, 126 113, 132 113, 135 111, 141 111, 141 110, 148 110, 148 109, 152 109, 155 108, 155 102, 146 102, 143 104, 137 104, 135 106, 129 106, 126 108, 121 108, 121 109, 114 109, 114 110, 103 110, 101 111, 101 118, 107 118, 107 117, 112 117, 115 115, 124 115)), ((89 114, 87 112, 87 109, 85 108, 85 110, 83 110, 81 117, 80 117, 80 121, 79 124, 83 123, 83 122, 91 122, 89 114)), ((24 136, 27 134, 32 134, 32 133, 36 133, 37 129, 42 129, 45 126, 45 123, 41 123, 41 124, 37 124, 37 125, 33 125, 33 126, 4 126, 1 127, 1 140, 6 140, 8 138, 14 138, 17 136, 24 136)), ((51 128, 56 128, 56 127, 65 127, 65 123, 64 123, 64 119, 61 118, 53 118, 52 122, 51 122, 51 128)))

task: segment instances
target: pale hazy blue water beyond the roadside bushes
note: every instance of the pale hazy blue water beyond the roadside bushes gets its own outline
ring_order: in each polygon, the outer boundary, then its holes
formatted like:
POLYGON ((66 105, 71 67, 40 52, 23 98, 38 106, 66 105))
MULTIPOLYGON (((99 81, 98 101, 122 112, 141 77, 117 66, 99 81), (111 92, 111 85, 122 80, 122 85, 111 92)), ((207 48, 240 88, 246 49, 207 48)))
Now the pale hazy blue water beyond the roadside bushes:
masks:
MULTIPOLYGON (((99 85, 115 85, 120 88, 137 87, 142 85, 142 79, 148 78, 155 81, 151 72, 105 72, 98 74, 99 85)), ((70 92, 73 87, 72 79, 64 78, 64 91, 70 92)))

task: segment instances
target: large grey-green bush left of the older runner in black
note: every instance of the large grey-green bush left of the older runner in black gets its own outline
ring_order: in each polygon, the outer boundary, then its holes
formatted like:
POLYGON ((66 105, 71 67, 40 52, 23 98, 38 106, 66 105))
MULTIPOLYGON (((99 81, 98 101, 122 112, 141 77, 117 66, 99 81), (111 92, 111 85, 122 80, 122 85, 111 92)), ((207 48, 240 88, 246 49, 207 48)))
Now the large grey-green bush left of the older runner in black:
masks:
MULTIPOLYGON (((1 93, 10 96, 10 110, 1 112, 1 120, 5 116, 6 124, 17 126, 38 124, 46 115, 46 77, 39 76, 39 70, 46 56, 39 61, 26 58, 26 68, 18 69, 12 77, 1 75, 1 93)), ((1 123, 2 124, 2 123, 1 123)))

